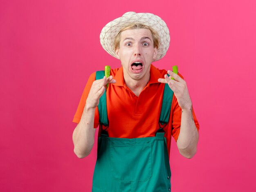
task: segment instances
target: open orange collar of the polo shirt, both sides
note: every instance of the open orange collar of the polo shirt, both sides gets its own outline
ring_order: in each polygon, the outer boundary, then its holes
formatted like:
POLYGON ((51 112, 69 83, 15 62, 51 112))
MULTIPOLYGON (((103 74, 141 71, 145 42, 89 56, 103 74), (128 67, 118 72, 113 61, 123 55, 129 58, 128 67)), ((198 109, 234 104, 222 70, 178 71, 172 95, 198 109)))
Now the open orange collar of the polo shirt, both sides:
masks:
MULTIPOLYGON (((150 66, 150 79, 149 79, 149 84, 152 83, 159 83, 158 79, 159 78, 163 78, 161 73, 158 71, 158 69, 151 64, 150 66)), ((113 83, 112 85, 116 85, 116 86, 124 86, 125 82, 124 82, 124 69, 123 67, 120 67, 117 70, 117 73, 114 77, 114 79, 116 80, 116 83, 113 83)))

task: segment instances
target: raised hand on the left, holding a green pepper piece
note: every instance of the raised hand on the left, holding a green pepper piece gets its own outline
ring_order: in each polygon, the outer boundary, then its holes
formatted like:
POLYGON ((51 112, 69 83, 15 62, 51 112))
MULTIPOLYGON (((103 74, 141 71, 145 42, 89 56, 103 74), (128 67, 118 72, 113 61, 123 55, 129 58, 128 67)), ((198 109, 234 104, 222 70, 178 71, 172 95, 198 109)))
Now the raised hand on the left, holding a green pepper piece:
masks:
POLYGON ((95 108, 99 105, 99 98, 101 98, 101 96, 103 95, 106 89, 106 85, 108 83, 116 83, 116 80, 113 79, 112 75, 109 76, 108 78, 104 76, 102 79, 95 80, 92 83, 92 87, 90 89, 90 92, 88 94, 88 97, 85 103, 85 106, 87 107, 87 109, 95 108))

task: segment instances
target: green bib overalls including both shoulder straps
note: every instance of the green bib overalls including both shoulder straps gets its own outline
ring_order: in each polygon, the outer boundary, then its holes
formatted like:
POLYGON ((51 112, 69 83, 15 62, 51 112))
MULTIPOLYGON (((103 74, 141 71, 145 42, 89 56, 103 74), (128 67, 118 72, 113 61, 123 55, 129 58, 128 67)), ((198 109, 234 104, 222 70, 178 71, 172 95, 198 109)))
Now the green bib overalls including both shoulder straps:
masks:
MULTIPOLYGON (((96 72, 96 79, 104 71, 96 72)), ((92 192, 169 192, 171 170, 164 125, 168 123, 173 92, 164 87, 159 130, 154 137, 113 138, 106 131, 98 138, 92 192)), ((108 127, 106 92, 99 101, 100 125, 108 127)))

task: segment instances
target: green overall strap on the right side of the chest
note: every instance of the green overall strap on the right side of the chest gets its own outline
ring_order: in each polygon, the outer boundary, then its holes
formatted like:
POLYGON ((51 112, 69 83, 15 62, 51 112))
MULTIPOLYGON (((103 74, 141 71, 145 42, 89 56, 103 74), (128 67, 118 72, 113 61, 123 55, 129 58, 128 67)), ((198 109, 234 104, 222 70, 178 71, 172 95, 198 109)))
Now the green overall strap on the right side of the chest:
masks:
POLYGON ((159 119, 159 123, 161 123, 162 125, 168 123, 169 121, 172 101, 173 101, 173 90, 170 89, 169 85, 166 83, 164 85, 162 109, 161 109, 161 114, 159 119))

